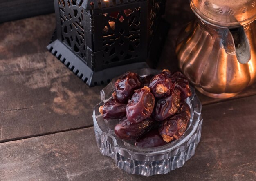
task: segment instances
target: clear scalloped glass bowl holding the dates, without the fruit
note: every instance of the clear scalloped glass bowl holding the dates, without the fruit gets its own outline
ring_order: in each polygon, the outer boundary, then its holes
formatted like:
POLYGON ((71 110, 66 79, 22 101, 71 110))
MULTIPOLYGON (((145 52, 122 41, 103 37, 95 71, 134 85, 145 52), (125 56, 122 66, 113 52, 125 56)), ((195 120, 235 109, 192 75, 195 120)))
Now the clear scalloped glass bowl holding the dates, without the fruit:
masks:
MULTIPOLYGON (((159 70, 149 68, 133 71, 140 76, 157 74, 159 70)), ((112 99, 115 78, 101 90, 101 102, 94 107, 93 122, 97 146, 103 155, 115 160, 117 166, 130 174, 151 176, 167 174, 171 170, 182 167, 195 154, 202 130, 202 104, 191 88, 192 95, 186 99, 191 108, 191 119, 184 134, 171 143, 154 148, 141 148, 133 141, 119 139, 114 132, 118 119, 105 120, 99 107, 112 99)))

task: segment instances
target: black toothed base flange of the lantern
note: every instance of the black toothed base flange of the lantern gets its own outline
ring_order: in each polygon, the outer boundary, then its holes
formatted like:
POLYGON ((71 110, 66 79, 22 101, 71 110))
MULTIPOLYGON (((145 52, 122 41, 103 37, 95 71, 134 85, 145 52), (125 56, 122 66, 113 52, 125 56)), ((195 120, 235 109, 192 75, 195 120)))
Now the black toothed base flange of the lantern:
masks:
POLYGON ((124 74, 127 71, 149 68, 148 65, 155 68, 161 55, 168 29, 169 24, 165 20, 161 20, 155 37, 153 38, 147 60, 141 60, 141 62, 124 64, 121 66, 114 66, 101 71, 93 71, 90 69, 81 58, 76 56, 67 46, 57 39, 56 32, 54 32, 47 49, 56 56, 58 60, 65 64, 65 66, 67 66, 67 68, 69 68, 75 75, 82 79, 83 82, 92 87, 101 84, 108 84, 112 78, 124 74))

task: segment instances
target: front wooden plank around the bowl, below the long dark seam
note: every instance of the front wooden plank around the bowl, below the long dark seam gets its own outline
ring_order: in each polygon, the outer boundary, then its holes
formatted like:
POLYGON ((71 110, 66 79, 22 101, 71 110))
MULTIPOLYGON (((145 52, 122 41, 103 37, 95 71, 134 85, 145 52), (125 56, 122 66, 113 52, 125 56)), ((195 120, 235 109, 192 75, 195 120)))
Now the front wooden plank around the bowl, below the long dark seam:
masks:
POLYGON ((0 143, 2 180, 234 180, 256 177, 256 96, 204 106, 195 156, 169 174, 127 174, 100 154, 93 128, 0 143), (238 106, 239 105, 239 106, 238 106))

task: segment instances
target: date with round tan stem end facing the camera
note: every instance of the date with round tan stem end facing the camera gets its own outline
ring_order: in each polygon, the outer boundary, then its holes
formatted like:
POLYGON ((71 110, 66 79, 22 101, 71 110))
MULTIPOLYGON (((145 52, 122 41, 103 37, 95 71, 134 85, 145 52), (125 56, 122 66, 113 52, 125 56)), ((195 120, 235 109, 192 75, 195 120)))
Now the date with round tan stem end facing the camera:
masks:
POLYGON ((155 75, 148 87, 153 95, 158 99, 171 95, 174 90, 174 84, 164 73, 155 75))

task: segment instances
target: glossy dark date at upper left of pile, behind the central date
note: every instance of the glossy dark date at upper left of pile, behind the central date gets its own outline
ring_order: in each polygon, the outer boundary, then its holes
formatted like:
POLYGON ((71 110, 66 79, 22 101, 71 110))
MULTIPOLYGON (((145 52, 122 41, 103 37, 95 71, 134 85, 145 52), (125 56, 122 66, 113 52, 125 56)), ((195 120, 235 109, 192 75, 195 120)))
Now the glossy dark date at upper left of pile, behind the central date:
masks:
POLYGON ((115 82, 115 92, 117 99, 121 103, 127 103, 127 101, 132 97, 134 91, 138 88, 142 88, 142 82, 134 72, 128 72, 124 74, 121 79, 115 82))

